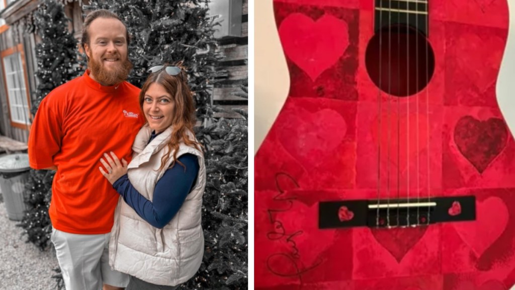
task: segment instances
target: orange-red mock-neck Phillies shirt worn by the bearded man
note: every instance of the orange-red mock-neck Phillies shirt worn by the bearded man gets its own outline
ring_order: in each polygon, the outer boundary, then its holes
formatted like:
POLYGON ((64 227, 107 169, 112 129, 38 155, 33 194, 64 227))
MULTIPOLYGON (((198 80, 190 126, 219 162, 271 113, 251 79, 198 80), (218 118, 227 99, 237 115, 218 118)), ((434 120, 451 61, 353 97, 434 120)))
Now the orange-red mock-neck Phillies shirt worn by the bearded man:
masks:
POLYGON ((127 82, 101 86, 86 71, 41 102, 28 154, 32 168, 58 168, 48 211, 54 228, 75 234, 111 231, 119 195, 98 170, 100 157, 113 151, 130 162, 132 142, 145 122, 139 93, 127 82))

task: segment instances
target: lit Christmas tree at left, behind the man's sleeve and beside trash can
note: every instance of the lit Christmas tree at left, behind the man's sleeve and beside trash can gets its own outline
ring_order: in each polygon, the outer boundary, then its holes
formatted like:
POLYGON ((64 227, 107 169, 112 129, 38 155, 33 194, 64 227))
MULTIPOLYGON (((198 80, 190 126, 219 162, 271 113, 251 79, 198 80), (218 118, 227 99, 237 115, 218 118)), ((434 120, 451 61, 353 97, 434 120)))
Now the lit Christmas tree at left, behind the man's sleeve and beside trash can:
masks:
MULTIPOLYGON (((78 76, 77 41, 68 31, 68 19, 63 5, 55 0, 45 0, 34 13, 36 33, 41 42, 36 45, 38 69, 37 100, 33 102, 32 115, 37 114, 41 100, 54 88, 78 76), (56 45, 59 43, 59 45, 56 45)), ((52 195, 53 171, 30 170, 26 185, 27 212, 19 224, 27 239, 41 250, 49 246, 52 225, 48 206, 52 195)))

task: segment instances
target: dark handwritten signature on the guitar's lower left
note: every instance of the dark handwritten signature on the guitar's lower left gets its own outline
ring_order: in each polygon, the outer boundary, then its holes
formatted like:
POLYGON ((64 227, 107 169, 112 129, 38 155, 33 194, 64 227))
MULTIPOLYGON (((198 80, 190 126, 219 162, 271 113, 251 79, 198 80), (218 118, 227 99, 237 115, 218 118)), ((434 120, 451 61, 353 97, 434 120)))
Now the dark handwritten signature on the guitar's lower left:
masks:
POLYGON ((284 214, 290 211, 294 205, 294 201, 297 199, 295 196, 285 197, 286 190, 279 184, 281 176, 288 179, 295 188, 300 188, 297 181, 289 174, 285 172, 276 174, 276 188, 278 194, 273 197, 273 200, 281 202, 281 208, 267 209, 269 221, 273 225, 273 230, 267 233, 267 238, 271 241, 285 241, 289 248, 287 251, 269 255, 267 257, 266 266, 274 275, 279 277, 297 277, 299 281, 302 282, 302 275, 318 267, 322 263, 322 260, 317 259, 313 265, 305 266, 302 263, 301 252, 299 248, 297 248, 297 243, 295 241, 295 238, 298 238, 304 232, 302 230, 290 231, 289 229, 284 228, 283 223, 277 217, 278 213, 284 214))

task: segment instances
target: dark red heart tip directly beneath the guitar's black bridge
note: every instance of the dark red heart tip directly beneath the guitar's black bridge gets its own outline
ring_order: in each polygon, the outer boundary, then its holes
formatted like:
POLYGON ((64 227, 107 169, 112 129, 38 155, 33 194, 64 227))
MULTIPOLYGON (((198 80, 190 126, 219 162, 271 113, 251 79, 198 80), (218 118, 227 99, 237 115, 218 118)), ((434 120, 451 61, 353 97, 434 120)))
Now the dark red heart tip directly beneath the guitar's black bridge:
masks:
POLYGON ((371 229, 372 235, 381 246, 401 263, 406 253, 424 236, 427 227, 371 229))

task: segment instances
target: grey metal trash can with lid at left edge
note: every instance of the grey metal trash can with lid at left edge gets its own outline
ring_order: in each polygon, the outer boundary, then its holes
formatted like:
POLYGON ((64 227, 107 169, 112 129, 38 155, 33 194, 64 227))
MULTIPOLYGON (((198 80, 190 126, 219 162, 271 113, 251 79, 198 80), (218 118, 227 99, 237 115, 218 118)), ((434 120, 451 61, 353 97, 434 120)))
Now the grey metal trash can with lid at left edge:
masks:
POLYGON ((25 184, 28 183, 29 169, 29 156, 26 153, 0 157, 0 189, 2 189, 7 216, 11 220, 23 218, 26 209, 25 184))

